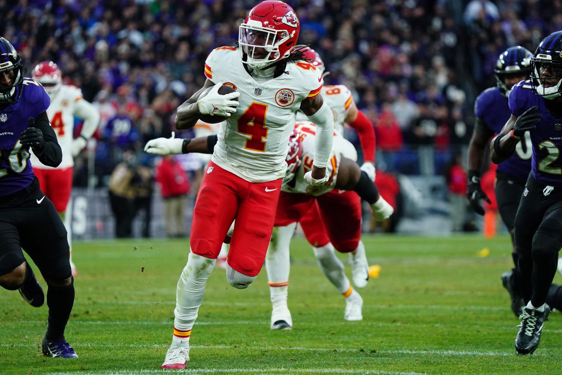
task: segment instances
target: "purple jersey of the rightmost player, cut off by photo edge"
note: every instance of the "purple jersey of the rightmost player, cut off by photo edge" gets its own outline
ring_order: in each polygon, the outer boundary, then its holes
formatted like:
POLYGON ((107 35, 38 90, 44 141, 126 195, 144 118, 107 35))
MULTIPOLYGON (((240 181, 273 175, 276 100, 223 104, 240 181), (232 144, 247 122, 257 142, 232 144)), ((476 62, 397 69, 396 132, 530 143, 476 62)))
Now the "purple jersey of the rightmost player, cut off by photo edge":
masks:
POLYGON ((532 106, 538 106, 536 112, 542 114, 536 123, 537 128, 527 132, 533 142, 531 169, 533 177, 546 185, 562 187, 562 119, 554 118, 546 109, 547 99, 535 95, 531 81, 519 82, 509 94, 509 109, 519 117, 532 106))

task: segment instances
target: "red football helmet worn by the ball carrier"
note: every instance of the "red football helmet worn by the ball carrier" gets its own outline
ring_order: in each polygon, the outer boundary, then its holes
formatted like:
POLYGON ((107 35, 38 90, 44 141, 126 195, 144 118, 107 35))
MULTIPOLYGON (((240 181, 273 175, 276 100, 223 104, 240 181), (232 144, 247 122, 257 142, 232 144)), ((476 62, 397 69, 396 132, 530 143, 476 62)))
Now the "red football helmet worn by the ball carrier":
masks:
POLYGON ((238 44, 245 64, 255 69, 289 56, 297 45, 300 22, 293 8, 282 1, 262 1, 240 24, 238 44))

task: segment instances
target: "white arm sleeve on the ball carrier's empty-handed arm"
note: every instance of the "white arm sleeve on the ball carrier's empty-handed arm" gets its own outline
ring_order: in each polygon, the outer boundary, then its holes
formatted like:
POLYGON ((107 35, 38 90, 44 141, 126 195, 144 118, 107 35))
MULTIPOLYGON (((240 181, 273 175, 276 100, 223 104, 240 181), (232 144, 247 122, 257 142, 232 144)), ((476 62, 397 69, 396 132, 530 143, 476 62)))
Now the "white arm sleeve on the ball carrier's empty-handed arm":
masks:
POLYGON ((314 137, 314 164, 318 168, 328 165, 332 142, 334 140, 334 114, 330 107, 324 102, 312 116, 308 116, 312 123, 316 124, 316 135, 314 137))

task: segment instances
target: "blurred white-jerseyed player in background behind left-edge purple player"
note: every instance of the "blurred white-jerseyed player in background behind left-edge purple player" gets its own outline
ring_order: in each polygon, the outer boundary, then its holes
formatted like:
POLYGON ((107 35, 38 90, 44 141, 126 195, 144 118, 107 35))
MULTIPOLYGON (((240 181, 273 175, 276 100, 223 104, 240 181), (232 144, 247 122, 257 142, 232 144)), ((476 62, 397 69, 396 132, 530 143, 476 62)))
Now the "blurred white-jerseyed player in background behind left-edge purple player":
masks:
POLYGON ((76 276, 76 266, 72 263, 72 225, 70 220, 65 220, 65 213, 72 189, 74 157, 78 156, 88 139, 96 132, 99 112, 96 107, 84 100, 78 87, 62 84, 61 70, 54 62, 43 61, 37 64, 32 78, 42 84, 51 97, 47 115, 62 149, 62 162, 53 168, 44 165, 34 153, 31 153, 31 164, 41 190, 53 202, 62 222, 65 223, 70 246, 72 276, 76 276), (76 139, 73 137, 75 117, 84 120, 80 135, 76 139))

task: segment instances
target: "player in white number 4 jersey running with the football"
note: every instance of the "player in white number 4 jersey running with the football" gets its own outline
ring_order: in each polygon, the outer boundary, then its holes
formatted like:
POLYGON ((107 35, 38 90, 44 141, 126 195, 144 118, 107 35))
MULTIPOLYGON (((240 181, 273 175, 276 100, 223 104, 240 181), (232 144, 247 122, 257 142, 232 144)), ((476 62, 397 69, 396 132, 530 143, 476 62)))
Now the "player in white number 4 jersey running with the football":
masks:
POLYGON ((268 0, 253 7, 240 25, 238 48, 214 49, 205 62, 205 85, 178 107, 178 129, 191 128, 202 115, 228 119, 197 195, 189 257, 176 288, 174 335, 163 368, 185 368, 189 360, 189 336, 205 283, 234 219, 226 279, 243 289, 260 272, 298 109, 318 126, 314 165, 306 179, 313 185, 328 180, 333 114, 320 95, 320 71, 301 61, 302 52, 296 48, 299 30, 287 4, 268 0), (223 83, 235 92, 219 94, 223 83))

